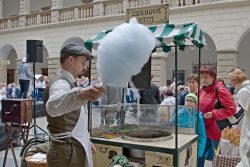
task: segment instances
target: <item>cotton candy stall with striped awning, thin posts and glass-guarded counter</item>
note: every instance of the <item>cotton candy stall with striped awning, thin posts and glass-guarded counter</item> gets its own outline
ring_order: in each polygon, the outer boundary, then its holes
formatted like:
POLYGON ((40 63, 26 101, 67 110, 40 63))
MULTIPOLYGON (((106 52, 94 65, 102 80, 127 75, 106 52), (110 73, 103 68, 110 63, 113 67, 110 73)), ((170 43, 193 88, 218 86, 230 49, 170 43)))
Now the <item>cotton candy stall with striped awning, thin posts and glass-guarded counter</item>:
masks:
MULTIPOLYGON (((187 46, 197 46, 199 48, 199 65, 201 59, 201 48, 206 45, 203 32, 200 30, 197 24, 188 23, 181 25, 174 24, 162 24, 148 27, 154 34, 154 37, 159 41, 157 47, 162 47, 163 51, 168 52, 171 48, 175 52, 175 77, 177 78, 178 70, 178 50, 184 50, 187 46)), ((85 46, 92 50, 96 48, 98 43, 112 30, 105 30, 96 36, 88 39, 85 42, 85 46)), ((200 67, 199 67, 200 68, 200 67)), ((177 94, 177 84, 176 84, 177 94)), ((155 111, 158 113, 158 105, 107 105, 98 106, 91 109, 89 116, 89 127, 92 137, 92 142, 97 144, 97 154, 94 157, 95 166, 99 166, 100 163, 108 164, 110 154, 123 154, 130 156, 131 149, 144 150, 144 156, 140 157, 144 159, 144 165, 146 167, 152 166, 196 166, 197 163, 197 135, 195 135, 195 127, 178 128, 178 114, 174 114, 180 106, 178 106, 178 99, 176 98, 175 106, 161 106, 166 111, 167 120, 165 124, 159 124, 159 115, 155 115, 154 121, 147 122, 140 120, 138 113, 145 113, 155 111), (121 107, 122 106, 122 107, 121 107), (174 110, 171 109, 174 108, 174 110), (114 120, 110 124, 105 126, 99 126, 99 113, 113 108, 113 114, 111 118, 114 120), (137 111, 136 116, 132 116, 129 119, 129 114, 132 111, 137 111), (117 123, 117 113, 124 116, 122 123, 117 123), (174 120, 174 121, 173 121, 174 120), (124 137, 127 132, 135 130, 150 130, 157 131, 163 130, 166 133, 170 133, 171 137, 167 137, 166 140, 156 141, 137 141, 128 140, 124 137)), ((162 108, 161 108, 162 110, 162 108)), ((195 117, 193 117, 193 122, 195 117)), ((144 133, 145 134, 145 133, 144 133)), ((157 135, 156 135, 157 136, 157 135)), ((154 138, 155 136, 153 136, 154 138)), ((159 136, 157 136, 159 137, 159 136)), ((165 136, 166 137, 166 136, 165 136)), ((137 138, 137 137, 136 137, 137 138)))

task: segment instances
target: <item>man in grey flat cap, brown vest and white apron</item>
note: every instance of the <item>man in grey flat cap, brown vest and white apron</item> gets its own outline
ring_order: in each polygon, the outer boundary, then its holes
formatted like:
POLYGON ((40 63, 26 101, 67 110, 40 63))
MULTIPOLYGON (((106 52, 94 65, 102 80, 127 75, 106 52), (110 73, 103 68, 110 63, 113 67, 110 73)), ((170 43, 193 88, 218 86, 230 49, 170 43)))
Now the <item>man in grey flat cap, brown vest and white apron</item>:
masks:
POLYGON ((103 87, 77 87, 76 80, 86 70, 93 55, 76 44, 64 46, 60 54, 62 69, 46 87, 44 104, 50 133, 47 162, 50 167, 92 167, 94 145, 87 129, 88 101, 105 94, 103 87))

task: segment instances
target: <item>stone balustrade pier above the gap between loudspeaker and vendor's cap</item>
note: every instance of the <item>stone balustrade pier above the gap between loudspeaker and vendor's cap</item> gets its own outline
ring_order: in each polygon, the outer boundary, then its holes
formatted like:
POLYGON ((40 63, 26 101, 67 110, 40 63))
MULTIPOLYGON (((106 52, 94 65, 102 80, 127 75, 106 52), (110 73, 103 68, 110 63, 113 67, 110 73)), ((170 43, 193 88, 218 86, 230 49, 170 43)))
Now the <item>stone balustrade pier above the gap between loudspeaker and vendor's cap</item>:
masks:
POLYGON ((60 21, 60 12, 58 9, 63 7, 63 0, 52 0, 51 6, 51 22, 59 22, 60 21))

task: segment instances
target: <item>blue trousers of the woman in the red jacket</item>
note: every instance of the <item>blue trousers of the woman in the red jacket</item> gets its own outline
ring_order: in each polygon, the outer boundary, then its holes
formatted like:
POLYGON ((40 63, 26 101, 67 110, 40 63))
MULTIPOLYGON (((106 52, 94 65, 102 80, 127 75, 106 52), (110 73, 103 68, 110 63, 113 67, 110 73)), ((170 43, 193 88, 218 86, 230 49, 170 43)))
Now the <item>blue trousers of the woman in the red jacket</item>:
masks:
MULTIPOLYGON (((207 138, 204 153, 203 153, 202 157, 200 157, 198 160, 199 161, 198 167, 204 167, 206 154, 211 150, 214 151, 214 149, 217 149, 219 147, 219 142, 220 142, 220 140, 212 140, 212 139, 207 138)), ((211 158, 213 158, 213 156, 214 156, 214 154, 212 155, 211 158)))

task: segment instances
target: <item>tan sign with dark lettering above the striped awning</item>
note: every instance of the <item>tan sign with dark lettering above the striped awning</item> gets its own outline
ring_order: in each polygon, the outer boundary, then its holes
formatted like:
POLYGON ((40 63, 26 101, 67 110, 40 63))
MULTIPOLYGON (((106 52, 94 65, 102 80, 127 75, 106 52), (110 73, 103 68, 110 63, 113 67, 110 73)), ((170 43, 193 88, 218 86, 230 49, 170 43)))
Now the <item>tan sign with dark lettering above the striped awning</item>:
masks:
POLYGON ((141 24, 164 24, 169 22, 168 4, 150 5, 127 9, 127 22, 135 17, 141 24))

